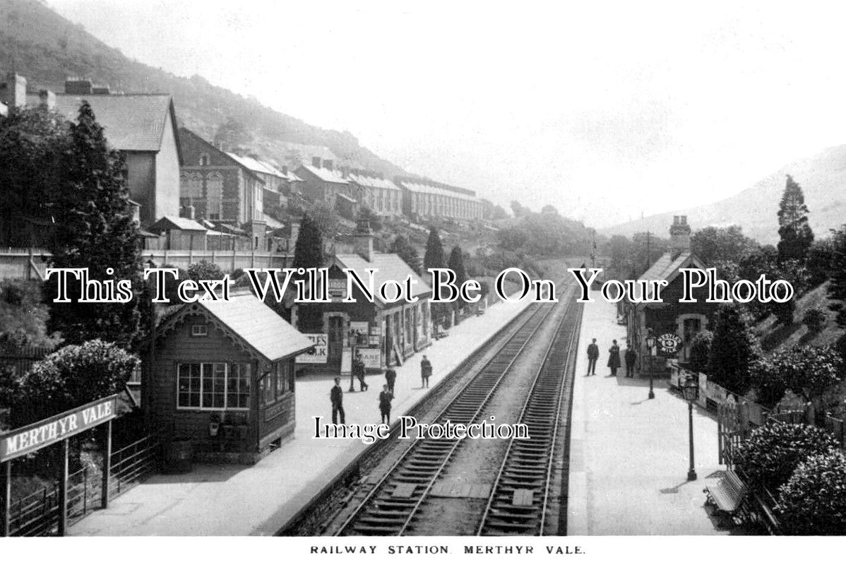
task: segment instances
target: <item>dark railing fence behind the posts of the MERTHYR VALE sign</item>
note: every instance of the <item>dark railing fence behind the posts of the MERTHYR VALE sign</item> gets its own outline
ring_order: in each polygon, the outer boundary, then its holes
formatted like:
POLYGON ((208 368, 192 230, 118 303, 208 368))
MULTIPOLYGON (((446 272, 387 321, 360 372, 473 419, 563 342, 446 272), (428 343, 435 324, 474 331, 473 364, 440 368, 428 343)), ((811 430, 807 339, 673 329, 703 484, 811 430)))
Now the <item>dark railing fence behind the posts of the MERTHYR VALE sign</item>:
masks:
MULTIPOLYGON (((108 500, 120 496, 147 475, 156 473, 162 461, 158 436, 145 436, 112 453, 108 500)), ((12 502, 9 534, 53 535, 58 530, 58 482, 52 487, 12 502)), ((102 470, 80 469, 68 477, 68 523, 75 524, 102 503, 102 470)))

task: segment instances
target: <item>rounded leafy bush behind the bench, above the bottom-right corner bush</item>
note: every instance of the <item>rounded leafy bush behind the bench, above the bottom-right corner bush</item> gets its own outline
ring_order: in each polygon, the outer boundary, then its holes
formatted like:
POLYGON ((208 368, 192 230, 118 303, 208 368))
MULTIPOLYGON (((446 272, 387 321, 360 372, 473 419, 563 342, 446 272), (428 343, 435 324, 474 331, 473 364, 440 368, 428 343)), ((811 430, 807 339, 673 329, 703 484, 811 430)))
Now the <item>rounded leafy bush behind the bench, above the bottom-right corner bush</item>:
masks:
POLYGON ((736 464, 749 478, 750 486, 775 491, 806 458, 836 447, 835 439, 820 428, 770 420, 740 443, 736 464))

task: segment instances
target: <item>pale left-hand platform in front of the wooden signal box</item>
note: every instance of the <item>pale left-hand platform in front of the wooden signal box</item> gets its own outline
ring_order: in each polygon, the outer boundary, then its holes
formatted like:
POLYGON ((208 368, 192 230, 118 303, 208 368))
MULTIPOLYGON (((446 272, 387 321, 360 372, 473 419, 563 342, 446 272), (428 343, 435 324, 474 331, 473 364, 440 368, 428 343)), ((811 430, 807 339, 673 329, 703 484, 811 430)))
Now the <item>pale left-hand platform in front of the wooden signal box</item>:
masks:
MULTIPOLYGON (((453 326, 449 336, 396 367, 393 420, 405 414, 431 388, 420 383, 420 359, 432 364, 430 387, 457 367, 530 304, 498 302, 484 315, 453 326)), ((305 376, 296 382, 294 437, 251 467, 195 464, 188 474, 157 474, 69 529, 69 535, 273 535, 321 488, 365 449, 355 439, 314 439, 315 416, 332 422, 332 375, 305 376)), ((366 392, 346 392, 347 424, 378 423, 378 396, 384 376, 368 375, 366 392)), ((355 382, 358 391, 358 381, 355 382)))

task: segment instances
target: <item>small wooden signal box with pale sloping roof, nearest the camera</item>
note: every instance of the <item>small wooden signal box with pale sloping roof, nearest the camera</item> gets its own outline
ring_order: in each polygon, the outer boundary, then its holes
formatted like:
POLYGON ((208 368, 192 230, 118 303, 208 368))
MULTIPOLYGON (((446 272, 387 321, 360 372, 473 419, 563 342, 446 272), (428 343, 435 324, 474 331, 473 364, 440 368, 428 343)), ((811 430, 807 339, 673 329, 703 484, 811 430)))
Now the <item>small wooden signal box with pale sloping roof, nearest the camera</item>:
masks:
POLYGON ((294 357, 313 343, 251 293, 173 306, 142 406, 196 459, 252 464, 294 433, 294 357))

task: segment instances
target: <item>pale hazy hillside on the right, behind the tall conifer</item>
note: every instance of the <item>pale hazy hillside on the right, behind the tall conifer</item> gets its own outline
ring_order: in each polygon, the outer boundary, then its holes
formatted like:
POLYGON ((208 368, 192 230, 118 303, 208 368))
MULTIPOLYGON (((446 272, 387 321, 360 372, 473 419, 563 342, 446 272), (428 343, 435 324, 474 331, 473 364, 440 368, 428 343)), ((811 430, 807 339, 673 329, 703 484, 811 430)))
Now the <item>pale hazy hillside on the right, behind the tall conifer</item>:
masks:
POLYGON ((816 156, 782 167, 777 172, 745 189, 739 195, 707 206, 668 211, 599 230, 605 235, 651 232, 663 235, 673 222, 673 215, 686 214, 692 228, 739 224, 744 233, 761 244, 778 241, 778 201, 784 190, 785 175, 790 174, 805 192, 810 210, 810 228, 819 236, 846 222, 846 145, 830 147, 816 156))

